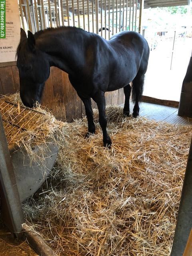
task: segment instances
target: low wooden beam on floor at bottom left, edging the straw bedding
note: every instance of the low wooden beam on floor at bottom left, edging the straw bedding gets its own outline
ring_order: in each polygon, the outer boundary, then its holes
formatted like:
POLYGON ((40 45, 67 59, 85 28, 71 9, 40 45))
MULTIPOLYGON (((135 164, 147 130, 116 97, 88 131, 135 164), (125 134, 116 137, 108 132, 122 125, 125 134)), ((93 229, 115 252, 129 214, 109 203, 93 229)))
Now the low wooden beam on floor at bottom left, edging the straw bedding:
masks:
POLYGON ((57 256, 57 254, 36 233, 30 230, 27 224, 23 224, 26 240, 33 250, 41 256, 57 256))

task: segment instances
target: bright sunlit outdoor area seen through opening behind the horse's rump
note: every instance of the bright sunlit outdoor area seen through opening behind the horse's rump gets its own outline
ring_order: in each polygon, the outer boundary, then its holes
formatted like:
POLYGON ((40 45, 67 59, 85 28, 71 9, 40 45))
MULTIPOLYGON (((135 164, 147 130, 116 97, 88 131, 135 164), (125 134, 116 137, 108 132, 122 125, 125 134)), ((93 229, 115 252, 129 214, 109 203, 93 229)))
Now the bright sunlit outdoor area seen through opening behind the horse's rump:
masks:
POLYGON ((150 46, 143 94, 179 101, 192 51, 192 8, 148 8, 143 16, 143 33, 150 46))

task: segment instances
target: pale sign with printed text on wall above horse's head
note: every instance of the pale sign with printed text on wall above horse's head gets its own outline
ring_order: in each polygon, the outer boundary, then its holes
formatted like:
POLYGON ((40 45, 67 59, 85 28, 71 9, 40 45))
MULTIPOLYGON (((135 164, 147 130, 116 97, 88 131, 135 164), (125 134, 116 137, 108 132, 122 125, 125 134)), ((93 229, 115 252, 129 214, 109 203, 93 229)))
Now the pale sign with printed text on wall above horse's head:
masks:
POLYGON ((20 42, 20 14, 17 0, 6 0, 6 38, 0 38, 0 62, 16 60, 20 42))

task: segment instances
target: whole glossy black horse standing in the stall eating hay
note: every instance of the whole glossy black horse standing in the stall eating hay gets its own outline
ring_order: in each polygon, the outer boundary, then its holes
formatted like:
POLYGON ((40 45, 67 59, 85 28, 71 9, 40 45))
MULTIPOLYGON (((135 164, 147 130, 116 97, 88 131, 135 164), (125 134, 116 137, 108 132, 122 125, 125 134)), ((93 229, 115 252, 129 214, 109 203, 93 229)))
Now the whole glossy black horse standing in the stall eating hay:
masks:
POLYGON ((111 139, 106 131, 105 92, 123 87, 123 112, 129 116, 129 83, 132 82, 133 116, 138 116, 149 52, 146 40, 132 31, 120 32, 107 41, 75 27, 48 28, 34 35, 28 31, 28 38, 21 28, 17 66, 22 102, 28 107, 40 102, 50 66, 56 66, 68 73, 72 86, 85 105, 87 136, 95 132, 92 98, 98 106, 104 146, 110 146, 111 139))

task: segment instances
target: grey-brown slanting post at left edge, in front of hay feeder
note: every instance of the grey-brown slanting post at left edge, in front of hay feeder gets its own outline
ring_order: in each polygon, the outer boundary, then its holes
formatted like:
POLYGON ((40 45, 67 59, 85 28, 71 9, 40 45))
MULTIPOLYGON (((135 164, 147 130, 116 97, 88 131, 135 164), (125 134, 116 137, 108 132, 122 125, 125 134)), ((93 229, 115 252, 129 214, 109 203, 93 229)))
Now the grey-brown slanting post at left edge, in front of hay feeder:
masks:
POLYGON ((4 224, 17 238, 21 238, 24 217, 20 203, 20 197, 16 184, 16 178, 8 150, 8 144, 4 133, 2 118, 0 115, 0 198, 1 214, 4 224))

